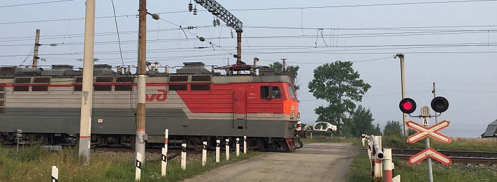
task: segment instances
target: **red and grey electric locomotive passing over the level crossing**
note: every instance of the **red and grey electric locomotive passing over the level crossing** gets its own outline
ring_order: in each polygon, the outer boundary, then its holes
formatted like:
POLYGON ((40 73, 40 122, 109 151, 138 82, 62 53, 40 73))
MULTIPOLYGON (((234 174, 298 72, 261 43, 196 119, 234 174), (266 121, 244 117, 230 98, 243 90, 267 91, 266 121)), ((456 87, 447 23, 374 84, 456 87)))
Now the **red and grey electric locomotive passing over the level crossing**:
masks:
MULTIPOLYGON (((232 74, 236 65, 219 67, 184 63, 176 73, 149 65, 146 84, 148 145, 182 140, 192 148, 203 141, 243 138, 258 149, 294 150, 299 101, 292 73, 249 66, 250 73, 232 74), (230 70, 231 69, 231 70, 230 70), (257 74, 257 69, 259 73, 257 74)), ((94 65, 91 116, 92 146, 134 147, 136 77, 131 69, 94 65), (124 70, 124 71, 123 71, 124 70)), ((0 68, 0 142, 12 143, 23 131, 29 144, 75 145, 81 115, 82 71, 71 65, 51 69, 0 68)), ((221 140, 224 141, 224 140, 221 140)))

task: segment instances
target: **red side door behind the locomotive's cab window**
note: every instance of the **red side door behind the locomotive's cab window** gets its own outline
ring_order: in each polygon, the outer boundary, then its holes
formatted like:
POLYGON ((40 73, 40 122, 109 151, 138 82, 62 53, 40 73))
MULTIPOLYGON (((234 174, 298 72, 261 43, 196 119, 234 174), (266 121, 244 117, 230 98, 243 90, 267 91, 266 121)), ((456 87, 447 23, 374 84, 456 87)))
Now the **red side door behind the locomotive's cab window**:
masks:
POLYGON ((247 102, 246 87, 244 84, 236 85, 233 92, 233 128, 245 129, 247 127, 247 102))

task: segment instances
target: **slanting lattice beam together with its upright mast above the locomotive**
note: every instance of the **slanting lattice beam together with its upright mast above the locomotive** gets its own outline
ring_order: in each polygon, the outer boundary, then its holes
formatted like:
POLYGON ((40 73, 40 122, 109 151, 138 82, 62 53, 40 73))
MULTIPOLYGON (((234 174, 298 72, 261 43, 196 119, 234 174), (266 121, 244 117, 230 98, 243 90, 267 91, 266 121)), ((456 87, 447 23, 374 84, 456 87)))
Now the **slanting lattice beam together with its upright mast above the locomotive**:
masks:
POLYGON ((241 61, 241 32, 243 32, 243 23, 215 0, 194 1, 200 6, 204 7, 212 15, 215 15, 219 19, 223 20, 227 26, 232 27, 236 30, 236 64, 245 64, 241 61))

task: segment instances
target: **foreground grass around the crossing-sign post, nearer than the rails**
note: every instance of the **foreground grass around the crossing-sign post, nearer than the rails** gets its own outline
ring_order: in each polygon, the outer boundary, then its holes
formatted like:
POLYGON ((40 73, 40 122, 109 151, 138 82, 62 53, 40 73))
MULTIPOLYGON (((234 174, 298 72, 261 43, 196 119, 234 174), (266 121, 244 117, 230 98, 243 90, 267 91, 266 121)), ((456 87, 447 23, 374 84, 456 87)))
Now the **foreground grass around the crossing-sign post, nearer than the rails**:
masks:
MULTIPOLYGON (((424 182, 428 181, 427 166, 425 162, 416 165, 408 164, 394 158, 395 175, 401 175, 403 182, 424 182)), ((450 165, 449 165, 450 166, 450 165)), ((360 154, 354 157, 352 167, 347 174, 349 182, 371 181, 371 163, 367 154, 360 154)), ((497 181, 497 173, 491 171, 479 171, 470 173, 458 169, 433 168, 433 180, 444 182, 467 182, 467 181, 497 181)), ((379 180, 383 181, 383 180, 379 180)))

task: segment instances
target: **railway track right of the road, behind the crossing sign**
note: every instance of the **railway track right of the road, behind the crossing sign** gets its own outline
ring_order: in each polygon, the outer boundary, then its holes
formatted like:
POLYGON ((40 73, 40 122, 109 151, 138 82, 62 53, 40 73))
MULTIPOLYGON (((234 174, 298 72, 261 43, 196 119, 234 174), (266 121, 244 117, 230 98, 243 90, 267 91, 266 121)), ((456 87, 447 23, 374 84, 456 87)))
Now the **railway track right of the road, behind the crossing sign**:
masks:
MULTIPOLYGON (((422 150, 392 149, 394 157, 407 160, 422 150)), ((497 152, 438 151, 452 160, 463 164, 497 164, 497 152)), ((436 160, 432 160, 437 162, 436 160)))

